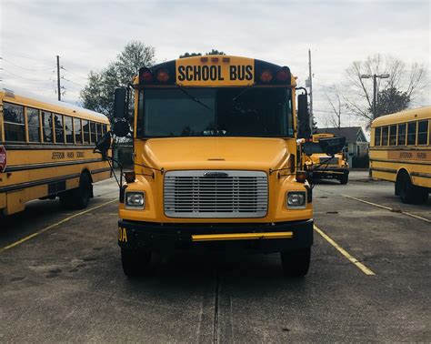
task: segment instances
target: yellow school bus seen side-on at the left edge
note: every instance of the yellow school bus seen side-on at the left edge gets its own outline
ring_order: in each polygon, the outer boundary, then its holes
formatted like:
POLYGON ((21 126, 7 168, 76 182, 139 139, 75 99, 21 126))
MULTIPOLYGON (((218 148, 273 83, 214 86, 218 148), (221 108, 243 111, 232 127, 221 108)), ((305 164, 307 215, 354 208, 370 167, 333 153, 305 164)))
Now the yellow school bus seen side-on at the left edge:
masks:
POLYGON ((93 152, 106 116, 66 103, 0 89, 0 212, 14 214, 38 198, 86 207, 92 183, 110 177, 93 152))

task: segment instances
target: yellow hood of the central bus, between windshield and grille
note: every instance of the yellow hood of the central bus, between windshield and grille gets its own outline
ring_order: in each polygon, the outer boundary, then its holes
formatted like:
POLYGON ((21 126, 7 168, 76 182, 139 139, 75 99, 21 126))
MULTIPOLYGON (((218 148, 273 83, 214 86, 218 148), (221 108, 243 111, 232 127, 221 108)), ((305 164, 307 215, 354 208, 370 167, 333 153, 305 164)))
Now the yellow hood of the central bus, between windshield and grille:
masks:
MULTIPOLYGON (((288 149, 282 138, 175 137, 135 141, 147 166, 179 169, 269 170, 286 164, 288 149), (141 146, 141 147, 139 147, 141 146)), ((143 169, 144 171, 144 169, 143 169)))

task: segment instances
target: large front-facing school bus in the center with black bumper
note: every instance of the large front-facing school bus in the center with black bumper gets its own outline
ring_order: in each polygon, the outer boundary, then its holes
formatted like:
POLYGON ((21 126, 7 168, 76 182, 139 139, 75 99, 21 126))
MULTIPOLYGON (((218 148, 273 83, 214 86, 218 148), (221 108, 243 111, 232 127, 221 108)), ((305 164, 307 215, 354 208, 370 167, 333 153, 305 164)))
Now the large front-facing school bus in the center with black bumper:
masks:
MULTIPOLYGON (((300 95, 298 134, 290 69, 196 56, 141 68, 133 88, 135 170, 118 221, 125 274, 144 273, 152 251, 204 247, 280 252, 287 276, 306 275, 313 197, 296 138, 309 122, 300 95)), ((118 136, 125 93, 115 91, 118 136)))

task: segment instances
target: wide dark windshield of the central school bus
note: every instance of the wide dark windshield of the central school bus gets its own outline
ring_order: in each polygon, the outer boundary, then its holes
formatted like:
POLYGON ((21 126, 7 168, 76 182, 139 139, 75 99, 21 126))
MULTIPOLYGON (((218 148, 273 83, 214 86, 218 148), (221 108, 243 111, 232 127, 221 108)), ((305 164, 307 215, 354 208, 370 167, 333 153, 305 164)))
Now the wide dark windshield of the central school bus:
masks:
POLYGON ((139 95, 137 137, 293 137, 291 90, 163 88, 139 95))

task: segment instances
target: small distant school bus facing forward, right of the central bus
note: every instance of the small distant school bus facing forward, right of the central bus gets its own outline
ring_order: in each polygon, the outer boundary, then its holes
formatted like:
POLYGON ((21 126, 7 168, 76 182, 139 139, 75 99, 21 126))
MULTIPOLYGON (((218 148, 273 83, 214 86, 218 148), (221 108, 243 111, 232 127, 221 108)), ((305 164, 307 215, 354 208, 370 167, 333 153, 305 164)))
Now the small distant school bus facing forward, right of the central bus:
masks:
POLYGON ((314 181, 333 178, 337 179, 341 184, 347 184, 349 166, 346 151, 343 150, 334 157, 329 157, 318 144, 320 139, 330 137, 335 136, 334 134, 313 134, 311 136, 313 154, 306 157, 305 169, 314 181))

